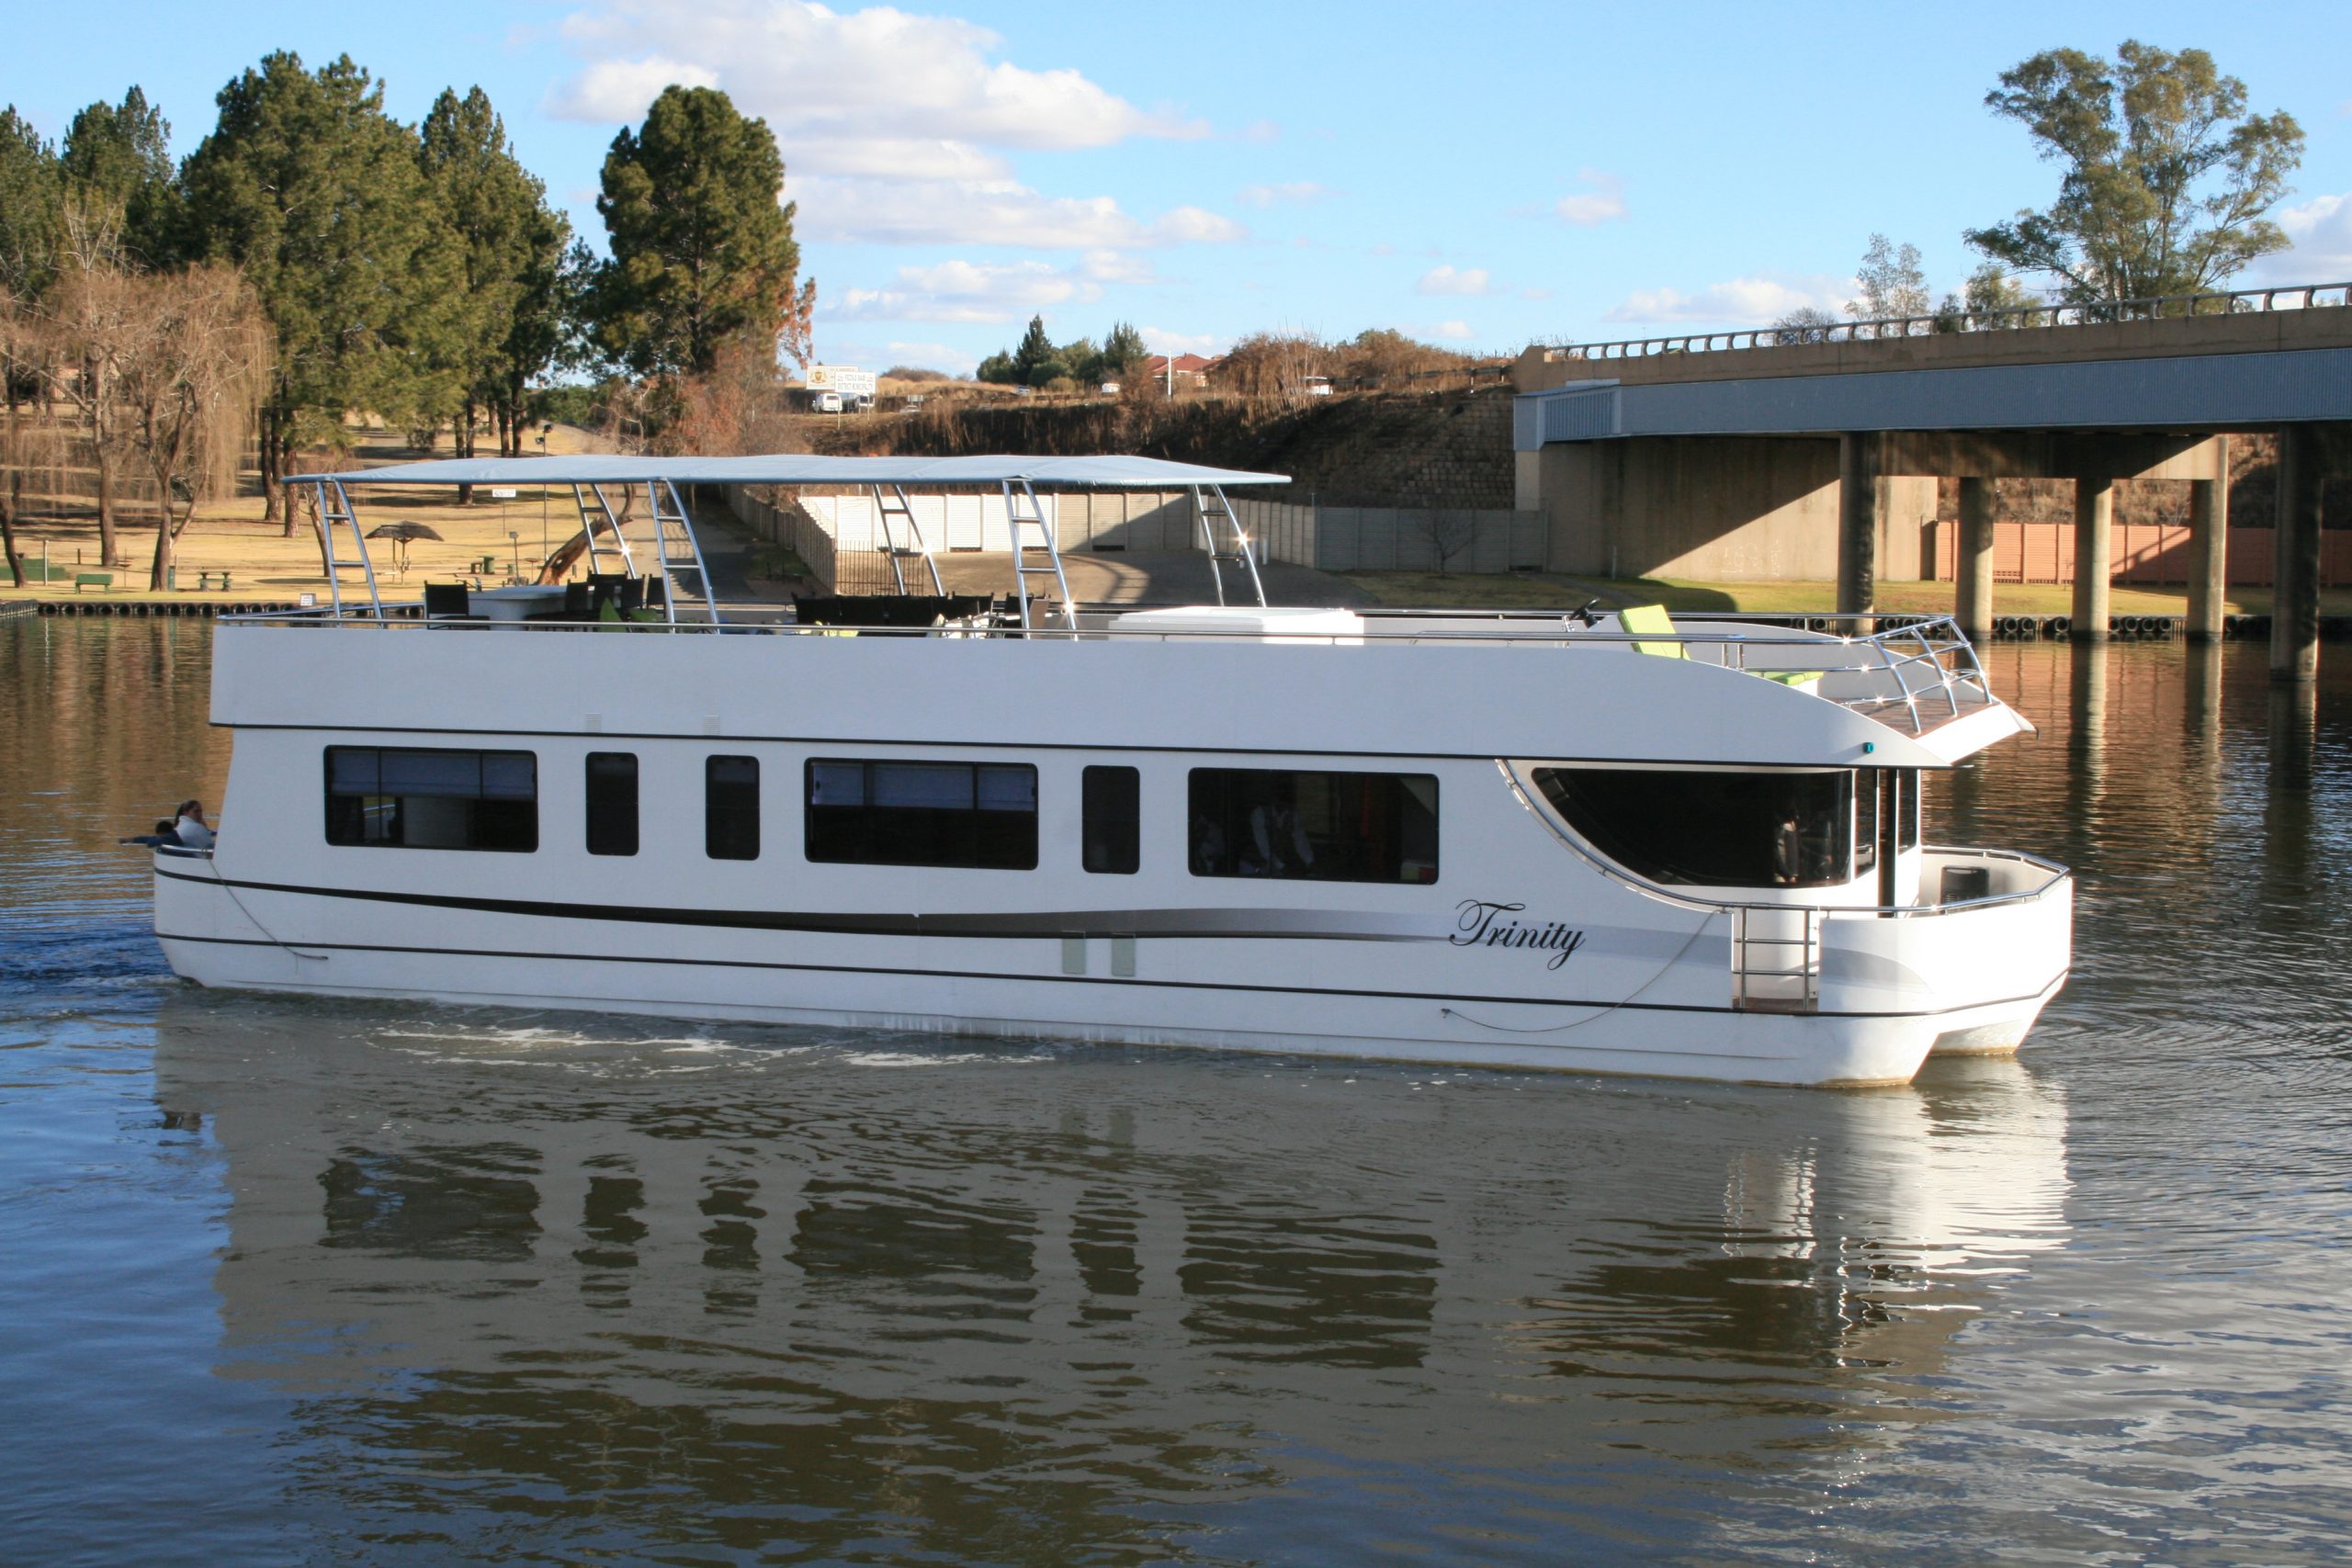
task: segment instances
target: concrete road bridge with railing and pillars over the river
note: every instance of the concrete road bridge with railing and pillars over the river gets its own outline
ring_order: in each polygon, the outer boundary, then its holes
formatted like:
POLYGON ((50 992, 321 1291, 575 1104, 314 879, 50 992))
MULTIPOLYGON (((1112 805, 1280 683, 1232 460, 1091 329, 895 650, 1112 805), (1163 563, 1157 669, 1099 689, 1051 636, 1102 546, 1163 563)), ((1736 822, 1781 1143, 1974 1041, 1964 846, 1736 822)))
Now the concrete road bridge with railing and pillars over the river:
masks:
MULTIPOLYGON (((1519 508, 1555 571, 1837 578, 1842 611, 1931 576, 1959 480, 1957 611, 1992 628, 1992 482, 2072 480, 2110 559, 2117 480, 2190 484, 2190 637, 2220 637, 2230 437, 2279 435, 2272 672, 2317 675, 2324 480, 2352 475, 2352 284, 1538 346, 1512 364, 1519 508)), ((2074 574, 2074 637, 2107 574, 2074 574)))

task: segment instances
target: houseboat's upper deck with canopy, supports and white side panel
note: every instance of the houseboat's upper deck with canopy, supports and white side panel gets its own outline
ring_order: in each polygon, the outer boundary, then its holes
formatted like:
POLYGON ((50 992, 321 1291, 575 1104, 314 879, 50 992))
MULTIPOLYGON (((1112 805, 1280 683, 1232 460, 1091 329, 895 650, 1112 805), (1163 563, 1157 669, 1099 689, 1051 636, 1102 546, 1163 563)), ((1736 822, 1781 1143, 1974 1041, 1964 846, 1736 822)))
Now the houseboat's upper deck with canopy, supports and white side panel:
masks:
MULTIPOLYGON (((1094 745, 1282 750, 1312 738, 1317 750, 1359 755, 1510 757, 1559 755, 1573 743, 1646 759, 1950 766, 2032 729, 1992 693, 1950 616, 1710 616, 1675 625, 1661 609, 1635 621, 1635 611, 1268 607, 1256 550, 1223 489, 1279 480, 1160 458, 804 454, 494 458, 308 475, 289 484, 315 489, 329 562, 334 541, 348 538, 355 557, 346 564, 365 574, 367 597, 343 595, 336 583, 334 604, 318 611, 233 623, 214 717, 412 726, 414 686, 480 689, 496 677, 501 686, 522 679, 543 691, 583 679, 623 693, 652 684, 680 703, 691 691, 696 701, 684 705, 706 710, 701 733, 750 733, 743 724, 774 731, 786 724, 776 693, 795 691, 793 724, 821 710, 826 726, 858 733, 870 729, 858 712, 866 703, 922 743, 957 743, 974 726, 1021 726, 1082 733, 1087 741, 1063 743, 1094 745), (811 604, 809 616, 741 607, 722 614, 680 482, 870 489, 903 592, 811 604), (386 604, 350 501, 362 484, 564 484, 581 520, 576 550, 562 564, 550 557, 536 583, 428 588, 421 614, 386 604), (1040 487, 1190 489, 1218 597, 1230 588, 1256 602, 1127 614, 1077 607, 1051 529, 1037 527, 1040 487), (995 602, 941 592, 910 489, 1000 491, 1014 522, 1014 592, 995 602), (1033 531, 1023 534, 1023 524, 1033 531), (581 559, 590 583, 567 585, 562 578, 581 559), (332 651, 308 637, 303 663, 343 698, 315 703, 289 701, 282 682, 259 670, 252 679, 238 675, 247 625, 407 635, 379 635, 365 649, 339 637, 332 651), (1305 658, 1315 649, 1329 658, 1305 658), (917 717, 906 705, 913 691, 938 703, 917 717), (729 722, 710 715, 713 705, 762 717, 729 722), (1136 715, 1150 722, 1134 738, 1105 738, 1134 729, 1136 715), (1176 715, 1195 715, 1197 736, 1155 733, 1176 715)), ((579 719, 586 729, 604 726, 616 705, 593 701, 579 719)), ((675 733, 684 724, 680 703, 619 698, 649 733, 675 733)), ((543 726, 548 705, 480 696, 466 705, 463 729, 543 726)), ((447 703, 435 717, 449 724, 447 703)))

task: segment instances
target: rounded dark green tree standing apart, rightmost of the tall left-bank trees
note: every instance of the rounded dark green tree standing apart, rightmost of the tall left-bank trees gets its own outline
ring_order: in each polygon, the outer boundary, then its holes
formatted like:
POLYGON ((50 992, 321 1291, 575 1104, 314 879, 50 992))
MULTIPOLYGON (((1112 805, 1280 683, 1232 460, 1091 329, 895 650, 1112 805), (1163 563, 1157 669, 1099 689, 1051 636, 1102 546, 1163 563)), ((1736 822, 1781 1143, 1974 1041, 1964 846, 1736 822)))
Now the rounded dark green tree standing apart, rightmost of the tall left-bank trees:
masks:
POLYGON ((595 336, 640 376, 706 374, 720 343, 757 334, 774 348, 814 303, 795 289, 800 244, 783 158, 767 120, 746 120, 715 87, 663 87, 644 127, 604 155, 597 214, 612 263, 597 277, 595 336))

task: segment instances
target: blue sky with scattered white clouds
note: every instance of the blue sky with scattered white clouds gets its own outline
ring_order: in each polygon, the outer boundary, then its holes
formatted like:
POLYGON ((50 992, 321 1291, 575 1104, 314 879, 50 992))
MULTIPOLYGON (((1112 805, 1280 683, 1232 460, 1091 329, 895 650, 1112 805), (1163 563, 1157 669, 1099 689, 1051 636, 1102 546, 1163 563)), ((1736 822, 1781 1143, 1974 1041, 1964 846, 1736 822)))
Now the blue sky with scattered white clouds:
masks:
POLYGON ((2352 24, 2331 5, 1552 0, 209 0, 0 7, 0 101, 61 134, 146 89, 176 155, 270 49, 350 54, 419 120, 480 85, 602 247, 597 172, 666 82, 776 132, 816 355, 967 374, 1030 315, 1155 350, 1392 327, 1517 353, 1842 310, 1870 235, 1933 292, 2046 205, 1999 73, 2124 38, 2211 49, 2307 134, 2241 282, 2352 277, 2352 24), (2225 19, 2225 24, 2223 24, 2225 19))

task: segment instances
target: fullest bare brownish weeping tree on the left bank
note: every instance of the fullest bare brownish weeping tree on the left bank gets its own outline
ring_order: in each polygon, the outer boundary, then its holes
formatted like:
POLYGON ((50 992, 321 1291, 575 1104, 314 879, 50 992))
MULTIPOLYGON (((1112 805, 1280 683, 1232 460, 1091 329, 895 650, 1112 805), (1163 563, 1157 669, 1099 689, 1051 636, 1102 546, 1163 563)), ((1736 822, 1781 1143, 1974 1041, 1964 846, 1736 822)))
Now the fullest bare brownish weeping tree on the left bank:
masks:
POLYGON ((148 588, 160 590, 195 503, 235 489, 268 388, 270 324, 252 284, 226 266, 134 277, 129 299, 139 339, 118 362, 118 388, 125 442, 155 482, 148 588))

